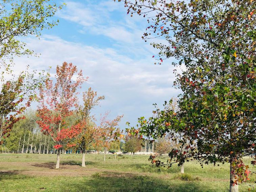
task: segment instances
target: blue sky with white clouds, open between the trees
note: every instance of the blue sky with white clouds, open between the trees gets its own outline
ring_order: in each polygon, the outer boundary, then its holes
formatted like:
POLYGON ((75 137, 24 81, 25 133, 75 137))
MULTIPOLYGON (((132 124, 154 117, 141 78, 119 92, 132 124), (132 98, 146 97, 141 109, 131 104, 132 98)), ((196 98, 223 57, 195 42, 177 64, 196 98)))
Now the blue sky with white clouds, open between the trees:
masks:
POLYGON ((146 18, 127 15, 123 3, 112 0, 64 3, 54 16, 57 26, 42 31, 40 39, 25 38, 27 47, 40 55, 15 58, 15 72, 27 65, 37 71, 51 66, 54 76, 57 65, 72 62, 89 77, 80 92, 91 87, 105 96, 92 114, 99 118, 109 111, 110 119, 123 115, 121 129, 127 127, 126 121, 135 126, 138 117, 150 117, 153 103, 162 106, 181 93, 173 87, 173 60, 154 65, 158 50, 141 38, 146 18))

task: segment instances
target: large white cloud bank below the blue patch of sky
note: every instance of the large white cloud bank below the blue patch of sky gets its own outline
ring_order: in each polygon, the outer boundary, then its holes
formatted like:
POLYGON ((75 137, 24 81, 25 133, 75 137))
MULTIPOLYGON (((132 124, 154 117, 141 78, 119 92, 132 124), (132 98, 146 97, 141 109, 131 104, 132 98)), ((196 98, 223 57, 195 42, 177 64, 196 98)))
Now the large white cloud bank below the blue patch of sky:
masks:
MULTIPOLYGON (((106 99, 95 113, 111 110, 112 118, 124 114, 121 123, 136 123, 137 117, 151 114, 152 103, 162 104, 179 91, 172 88, 175 79, 170 65, 155 66, 152 58, 134 60, 114 49, 100 49, 66 41, 56 36, 43 36, 40 40, 29 38, 28 48, 41 53, 37 57, 19 57, 15 60, 16 71, 29 64, 32 69, 47 70, 52 73, 63 61, 72 62, 89 76, 82 91, 92 87, 106 99), (132 118, 132 119, 129 119, 132 118)), ((81 92, 82 92, 81 91, 81 92)))

